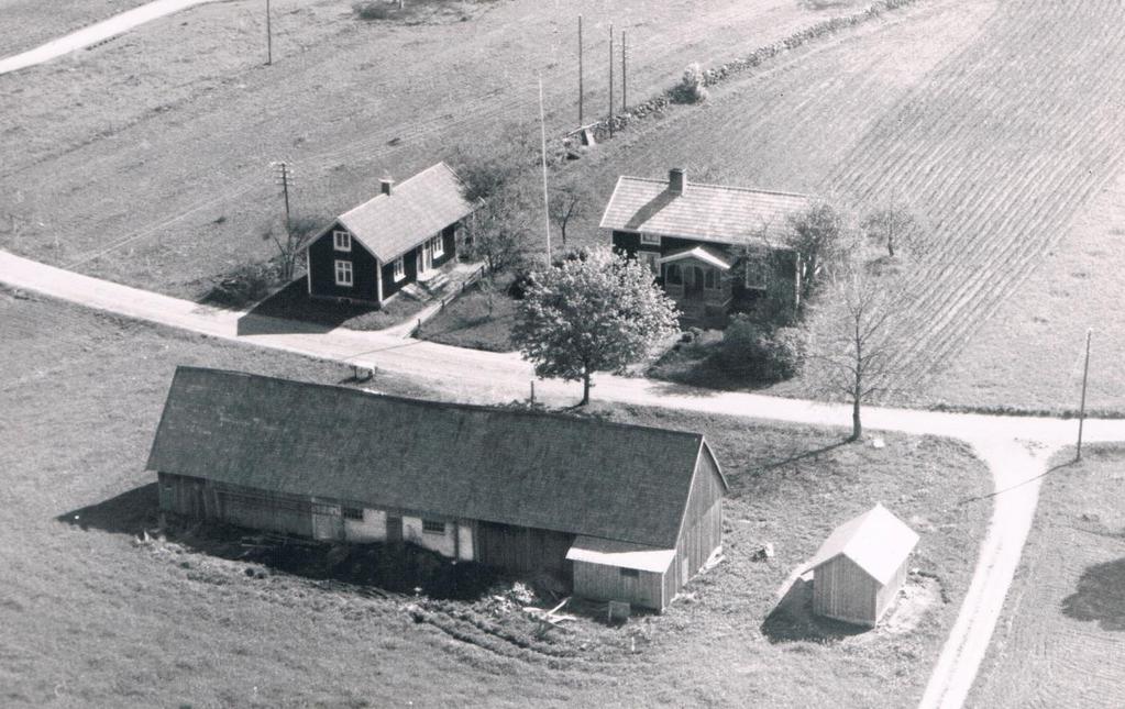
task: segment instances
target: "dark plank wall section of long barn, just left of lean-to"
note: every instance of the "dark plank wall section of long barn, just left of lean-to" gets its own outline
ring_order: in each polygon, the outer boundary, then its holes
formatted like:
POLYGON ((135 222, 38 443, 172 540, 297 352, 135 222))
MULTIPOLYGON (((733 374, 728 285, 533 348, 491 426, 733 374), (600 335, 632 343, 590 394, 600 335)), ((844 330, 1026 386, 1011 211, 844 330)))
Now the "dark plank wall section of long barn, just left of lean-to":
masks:
POLYGON ((518 573, 547 569, 569 578, 566 553, 574 539, 575 535, 564 532, 478 522, 477 560, 518 573))

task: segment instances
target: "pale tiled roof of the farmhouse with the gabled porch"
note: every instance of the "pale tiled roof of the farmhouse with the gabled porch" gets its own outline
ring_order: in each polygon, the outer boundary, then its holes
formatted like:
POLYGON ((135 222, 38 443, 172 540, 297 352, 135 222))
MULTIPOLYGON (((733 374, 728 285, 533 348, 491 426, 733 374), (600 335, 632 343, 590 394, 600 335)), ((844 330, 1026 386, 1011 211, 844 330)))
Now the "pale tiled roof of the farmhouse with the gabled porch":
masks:
POLYGON ((786 217, 810 204, 807 195, 686 180, 677 195, 668 189, 668 180, 620 177, 602 215, 602 228, 724 244, 776 243, 784 236, 786 217))

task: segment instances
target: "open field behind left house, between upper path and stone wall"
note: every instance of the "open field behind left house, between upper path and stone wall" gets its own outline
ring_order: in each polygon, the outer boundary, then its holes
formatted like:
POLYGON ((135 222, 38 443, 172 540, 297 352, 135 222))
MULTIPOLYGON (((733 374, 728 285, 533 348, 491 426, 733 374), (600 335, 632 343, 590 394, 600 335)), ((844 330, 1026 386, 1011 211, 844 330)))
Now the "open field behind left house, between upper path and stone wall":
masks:
POLYGON ((271 161, 292 161, 298 214, 331 216, 371 197, 379 177, 404 179, 456 144, 502 142, 506 124, 537 119, 537 75, 550 134, 572 129, 579 12, 590 120, 608 110, 611 23, 627 33, 637 100, 690 62, 711 64, 855 7, 431 5, 388 23, 360 20, 349 1, 277 0, 271 66, 261 2, 205 5, 80 61, 0 77, 0 245, 198 297, 214 276, 271 255, 260 236, 281 214, 271 161))

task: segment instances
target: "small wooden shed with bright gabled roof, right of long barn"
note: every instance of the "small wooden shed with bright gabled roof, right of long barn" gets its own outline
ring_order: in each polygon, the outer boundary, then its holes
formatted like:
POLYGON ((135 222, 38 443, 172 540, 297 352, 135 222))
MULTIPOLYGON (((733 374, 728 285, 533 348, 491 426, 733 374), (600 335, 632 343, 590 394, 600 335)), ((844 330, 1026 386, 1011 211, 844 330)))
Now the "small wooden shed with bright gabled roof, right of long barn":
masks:
POLYGON ((907 577, 918 533, 881 504, 845 522, 817 551, 812 612, 874 628, 907 577))

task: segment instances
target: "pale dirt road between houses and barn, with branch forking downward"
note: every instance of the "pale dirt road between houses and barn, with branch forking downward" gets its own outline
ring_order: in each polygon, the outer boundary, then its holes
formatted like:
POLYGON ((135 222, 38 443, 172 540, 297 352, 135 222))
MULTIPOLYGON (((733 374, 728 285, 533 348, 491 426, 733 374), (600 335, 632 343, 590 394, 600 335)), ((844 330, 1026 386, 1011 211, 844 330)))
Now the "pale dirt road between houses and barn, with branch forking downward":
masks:
MULTIPOLYGON (((0 251, 0 282, 197 333, 405 374, 462 401, 524 398, 534 379, 516 354, 465 350, 380 332, 326 331, 242 312, 201 306, 146 290, 81 276, 0 251)), ((847 427, 847 406, 712 392, 642 378, 598 376, 604 401, 722 413, 794 423, 847 427)), ((573 403, 576 385, 538 382, 536 394, 552 404, 573 403)), ((1008 586, 1035 515, 1040 476, 1054 451, 1074 440, 1077 422, 1029 416, 955 414, 867 407, 868 429, 935 434, 968 441, 988 463, 994 508, 976 568, 953 630, 926 688, 921 706, 960 707, 972 688, 1004 607, 1008 586)), ((1090 420, 1089 441, 1125 440, 1125 421, 1090 420)))

